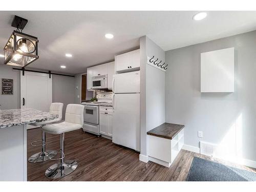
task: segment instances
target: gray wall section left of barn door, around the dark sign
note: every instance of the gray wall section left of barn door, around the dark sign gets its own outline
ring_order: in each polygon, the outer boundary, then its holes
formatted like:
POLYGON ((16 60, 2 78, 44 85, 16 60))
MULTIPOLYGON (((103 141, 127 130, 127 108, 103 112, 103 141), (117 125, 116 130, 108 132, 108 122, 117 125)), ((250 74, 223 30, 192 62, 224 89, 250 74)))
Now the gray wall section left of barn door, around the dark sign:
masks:
POLYGON ((13 95, 2 95, 2 81, 0 82, 0 109, 20 108, 20 72, 13 71, 12 66, 0 64, 0 80, 2 78, 13 79, 13 95))

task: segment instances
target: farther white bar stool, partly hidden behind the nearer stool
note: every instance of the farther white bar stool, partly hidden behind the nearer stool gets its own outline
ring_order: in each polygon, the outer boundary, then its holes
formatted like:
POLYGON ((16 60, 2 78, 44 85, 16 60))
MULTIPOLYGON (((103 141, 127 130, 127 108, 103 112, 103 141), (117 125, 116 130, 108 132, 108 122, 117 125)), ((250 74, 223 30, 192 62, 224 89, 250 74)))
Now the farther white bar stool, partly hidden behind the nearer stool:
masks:
MULTIPOLYGON (((57 103, 57 102, 56 103, 51 103, 49 113, 54 114, 54 115, 58 115, 58 118, 50 120, 50 121, 42 121, 42 122, 31 123, 31 125, 34 125, 34 126, 38 126, 39 125, 40 128, 42 128, 46 124, 55 123, 55 122, 61 121, 61 119, 62 119, 62 109, 63 109, 63 103, 57 103)), ((37 146, 34 143, 35 142, 41 142, 41 144, 42 144, 42 151, 32 155, 28 159, 28 161, 30 163, 44 162, 44 161, 49 160, 49 158, 53 158, 53 157, 55 157, 57 155, 56 151, 52 151, 52 150, 46 151, 46 147, 45 147, 45 145, 46 145, 46 134, 45 134, 45 132, 43 130, 41 130, 41 131, 42 131, 41 132, 42 133, 41 141, 39 141, 39 140, 33 141, 31 143, 31 145, 32 146, 37 146), (51 154, 51 155, 49 155, 49 154, 51 154), (47 156, 49 156, 49 158, 47 156)))

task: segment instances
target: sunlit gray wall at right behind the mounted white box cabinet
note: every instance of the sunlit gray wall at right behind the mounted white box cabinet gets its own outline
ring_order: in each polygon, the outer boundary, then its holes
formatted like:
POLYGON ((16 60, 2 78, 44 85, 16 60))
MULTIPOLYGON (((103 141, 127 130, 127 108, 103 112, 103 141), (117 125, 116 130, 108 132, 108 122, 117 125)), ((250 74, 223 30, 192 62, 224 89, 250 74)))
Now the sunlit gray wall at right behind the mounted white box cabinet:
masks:
POLYGON ((242 158, 256 161, 255 45, 253 31, 166 52, 165 119, 185 125, 185 144, 199 147, 198 131, 210 143, 236 138, 242 158), (234 93, 200 93, 200 53, 230 47, 235 50, 234 93), (238 128, 241 133, 234 134, 238 128))

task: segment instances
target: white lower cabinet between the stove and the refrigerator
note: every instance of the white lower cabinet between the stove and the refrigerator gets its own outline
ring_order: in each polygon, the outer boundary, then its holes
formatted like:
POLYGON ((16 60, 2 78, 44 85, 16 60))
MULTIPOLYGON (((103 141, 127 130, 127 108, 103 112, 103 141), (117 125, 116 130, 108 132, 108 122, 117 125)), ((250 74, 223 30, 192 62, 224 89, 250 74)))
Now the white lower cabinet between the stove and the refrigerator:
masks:
POLYGON ((102 136, 112 137, 113 134, 113 108, 100 106, 99 108, 99 133, 102 136))

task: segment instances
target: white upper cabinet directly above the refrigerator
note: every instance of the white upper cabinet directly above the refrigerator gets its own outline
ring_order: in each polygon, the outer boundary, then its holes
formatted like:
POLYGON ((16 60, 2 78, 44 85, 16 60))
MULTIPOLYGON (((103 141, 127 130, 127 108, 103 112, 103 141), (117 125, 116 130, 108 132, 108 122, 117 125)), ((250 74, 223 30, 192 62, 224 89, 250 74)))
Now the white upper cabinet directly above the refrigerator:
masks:
POLYGON ((140 68, 140 50, 117 55, 115 57, 116 72, 137 71, 140 68))

